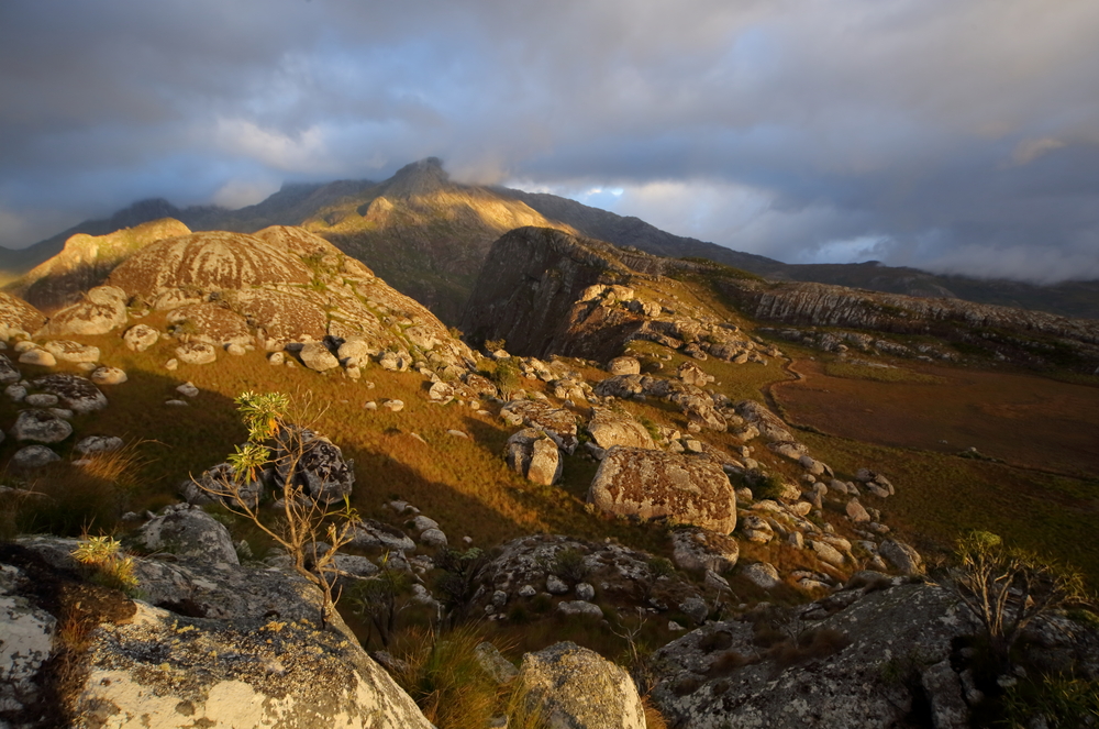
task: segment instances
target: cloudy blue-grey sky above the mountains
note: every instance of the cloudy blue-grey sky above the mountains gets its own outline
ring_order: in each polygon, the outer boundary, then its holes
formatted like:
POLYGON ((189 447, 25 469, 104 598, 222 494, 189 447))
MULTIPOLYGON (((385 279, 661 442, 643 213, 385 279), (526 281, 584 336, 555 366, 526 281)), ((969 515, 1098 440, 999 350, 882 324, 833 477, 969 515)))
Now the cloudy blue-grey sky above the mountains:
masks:
POLYGON ((1099 278, 1095 0, 3 0, 0 99, 7 247, 437 156, 788 263, 1099 278))

